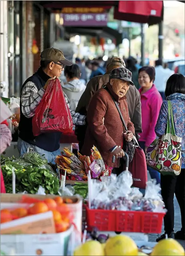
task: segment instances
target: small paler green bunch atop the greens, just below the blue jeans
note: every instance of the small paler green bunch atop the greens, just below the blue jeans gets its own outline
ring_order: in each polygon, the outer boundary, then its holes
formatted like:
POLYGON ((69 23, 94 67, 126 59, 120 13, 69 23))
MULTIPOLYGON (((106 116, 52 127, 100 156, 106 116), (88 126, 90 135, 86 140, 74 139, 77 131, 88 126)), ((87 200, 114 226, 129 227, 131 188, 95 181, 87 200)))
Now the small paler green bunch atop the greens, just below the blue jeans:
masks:
POLYGON ((25 153, 22 158, 27 163, 31 163, 34 166, 41 167, 42 165, 47 165, 48 160, 42 156, 40 156, 37 152, 31 151, 25 153))

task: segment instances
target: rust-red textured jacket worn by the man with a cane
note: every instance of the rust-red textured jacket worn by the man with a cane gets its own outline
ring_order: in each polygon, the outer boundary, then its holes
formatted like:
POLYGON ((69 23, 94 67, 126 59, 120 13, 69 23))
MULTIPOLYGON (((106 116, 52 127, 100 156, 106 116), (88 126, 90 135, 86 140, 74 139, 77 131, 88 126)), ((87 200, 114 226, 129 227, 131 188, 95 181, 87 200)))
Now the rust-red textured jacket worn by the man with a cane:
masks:
MULTIPOLYGON (((119 99, 109 84, 107 87, 114 99, 119 103, 127 129, 135 133, 134 125, 129 117, 126 96, 119 99)), ((87 123, 88 127, 81 153, 90 156, 91 148, 94 145, 98 148, 104 162, 109 167, 119 167, 119 159, 116 159, 115 163, 112 163, 113 154, 109 149, 115 145, 123 148, 124 127, 111 95, 104 88, 99 89, 90 101, 87 112, 87 123), (104 124, 102 122, 103 117, 105 119, 104 124)))

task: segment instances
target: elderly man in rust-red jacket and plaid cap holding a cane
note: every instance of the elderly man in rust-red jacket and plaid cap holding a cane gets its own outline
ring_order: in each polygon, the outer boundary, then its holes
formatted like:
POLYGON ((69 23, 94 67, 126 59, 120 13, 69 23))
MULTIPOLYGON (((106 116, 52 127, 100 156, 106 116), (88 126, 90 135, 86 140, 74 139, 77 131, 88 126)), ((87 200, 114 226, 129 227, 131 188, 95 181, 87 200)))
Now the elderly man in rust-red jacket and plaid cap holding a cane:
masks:
POLYGON ((122 172, 119 158, 124 156, 124 138, 133 139, 134 125, 129 117, 126 93, 134 86, 132 73, 126 68, 113 69, 106 88, 99 89, 92 97, 87 111, 87 132, 81 149, 84 155, 91 155, 91 148, 96 146, 104 162, 115 168, 118 175, 122 172), (117 101, 128 129, 126 133, 114 100, 117 101), (104 118, 104 123, 102 119, 104 118), (112 156, 115 155, 115 163, 112 156))

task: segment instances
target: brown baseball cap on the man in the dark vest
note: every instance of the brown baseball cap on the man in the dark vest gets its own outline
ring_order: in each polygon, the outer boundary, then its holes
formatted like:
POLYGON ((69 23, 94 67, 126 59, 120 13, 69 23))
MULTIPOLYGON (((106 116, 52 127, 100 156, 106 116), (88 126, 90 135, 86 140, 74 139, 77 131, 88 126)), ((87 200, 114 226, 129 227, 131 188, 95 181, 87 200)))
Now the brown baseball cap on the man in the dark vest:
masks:
POLYGON ((73 65, 73 62, 64 57, 63 52, 55 48, 48 48, 41 52, 41 60, 61 62, 66 66, 73 65))

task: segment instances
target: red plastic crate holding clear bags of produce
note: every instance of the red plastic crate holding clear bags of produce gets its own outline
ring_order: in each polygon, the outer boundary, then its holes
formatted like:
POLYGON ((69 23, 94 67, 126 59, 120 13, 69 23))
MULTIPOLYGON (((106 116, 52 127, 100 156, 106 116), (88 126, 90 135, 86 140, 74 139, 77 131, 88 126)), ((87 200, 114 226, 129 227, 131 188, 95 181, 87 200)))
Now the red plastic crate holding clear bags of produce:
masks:
POLYGON ((165 213, 148 211, 92 210, 86 208, 88 229, 100 231, 141 232, 160 234, 165 213))

